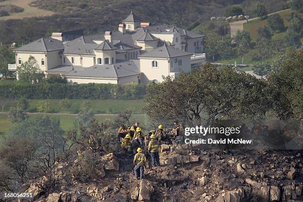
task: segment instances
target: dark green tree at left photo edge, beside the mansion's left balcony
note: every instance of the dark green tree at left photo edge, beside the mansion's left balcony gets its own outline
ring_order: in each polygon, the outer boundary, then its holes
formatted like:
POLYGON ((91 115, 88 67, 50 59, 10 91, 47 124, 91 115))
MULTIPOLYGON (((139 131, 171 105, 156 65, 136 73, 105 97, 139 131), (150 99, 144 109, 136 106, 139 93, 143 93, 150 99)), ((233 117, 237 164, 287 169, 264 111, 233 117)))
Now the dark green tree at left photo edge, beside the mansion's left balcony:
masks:
POLYGON ((8 64, 15 63, 14 52, 4 46, 0 46, 0 74, 8 74, 8 64))

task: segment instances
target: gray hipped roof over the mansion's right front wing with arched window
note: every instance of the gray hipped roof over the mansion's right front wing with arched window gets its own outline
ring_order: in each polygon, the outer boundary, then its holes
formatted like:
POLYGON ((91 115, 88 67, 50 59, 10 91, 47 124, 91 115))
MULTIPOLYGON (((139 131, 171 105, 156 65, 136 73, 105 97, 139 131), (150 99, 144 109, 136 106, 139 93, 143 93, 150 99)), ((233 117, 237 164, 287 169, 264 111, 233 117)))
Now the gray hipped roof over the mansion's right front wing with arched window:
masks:
POLYGON ((184 55, 192 55, 190 52, 185 52, 179 49, 168 47, 166 43, 163 46, 158 47, 150 52, 146 52, 139 56, 141 57, 155 57, 155 58, 171 58, 184 55))

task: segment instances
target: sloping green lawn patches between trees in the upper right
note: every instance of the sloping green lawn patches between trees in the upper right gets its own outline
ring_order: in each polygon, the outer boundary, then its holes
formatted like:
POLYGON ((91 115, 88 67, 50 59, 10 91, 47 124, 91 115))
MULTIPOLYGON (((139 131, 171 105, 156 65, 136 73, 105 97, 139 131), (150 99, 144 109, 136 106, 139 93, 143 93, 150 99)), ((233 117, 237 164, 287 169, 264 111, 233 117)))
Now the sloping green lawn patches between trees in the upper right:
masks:
MULTIPOLYGON (((288 26, 288 19, 290 18, 291 16, 291 10, 285 10, 285 11, 282 11, 282 12, 279 12, 278 13, 281 18, 283 19, 283 22, 284 22, 284 25, 285 27, 287 28, 288 26)), ((303 13, 301 13, 301 15, 303 16, 303 13)), ((264 19, 264 20, 261 20, 261 19, 255 19, 255 20, 252 20, 252 21, 249 21, 249 23, 244 23, 243 24, 243 28, 247 31, 250 32, 251 34, 251 37, 252 37, 252 42, 255 42, 256 39, 257 39, 257 29, 259 27, 263 27, 264 25, 267 25, 268 26, 268 19, 264 19)), ((286 30, 285 30, 286 31, 286 30)), ((281 39, 284 39, 284 36, 285 36, 285 32, 282 32, 282 33, 275 33, 273 36, 272 36, 272 39, 273 40, 281 40, 281 39)))

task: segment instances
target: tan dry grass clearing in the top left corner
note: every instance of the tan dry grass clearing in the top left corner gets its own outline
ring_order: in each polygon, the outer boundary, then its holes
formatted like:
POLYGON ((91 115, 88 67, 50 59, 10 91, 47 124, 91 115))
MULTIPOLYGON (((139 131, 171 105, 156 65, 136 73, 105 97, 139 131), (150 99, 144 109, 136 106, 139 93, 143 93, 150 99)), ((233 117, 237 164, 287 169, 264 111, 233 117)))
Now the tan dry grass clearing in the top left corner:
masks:
POLYGON ((29 4, 32 1, 33 0, 5 0, 5 1, 0 2, 0 5, 13 4, 13 5, 24 8, 23 12, 11 13, 9 16, 0 17, 0 20, 23 19, 23 18, 27 18, 27 17, 42 17, 42 16, 49 16, 49 15, 54 14, 54 12, 52 12, 52 11, 30 6, 29 4))

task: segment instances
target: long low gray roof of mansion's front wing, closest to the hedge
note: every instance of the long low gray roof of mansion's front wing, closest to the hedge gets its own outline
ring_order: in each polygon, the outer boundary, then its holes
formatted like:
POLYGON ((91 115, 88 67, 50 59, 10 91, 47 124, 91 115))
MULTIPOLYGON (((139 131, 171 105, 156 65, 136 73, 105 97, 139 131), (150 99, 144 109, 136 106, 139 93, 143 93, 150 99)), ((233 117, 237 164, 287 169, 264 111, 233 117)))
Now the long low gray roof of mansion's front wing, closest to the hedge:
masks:
POLYGON ((66 77, 120 78, 141 74, 139 60, 130 60, 115 64, 96 64, 91 67, 69 71, 66 77))

